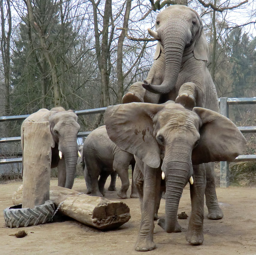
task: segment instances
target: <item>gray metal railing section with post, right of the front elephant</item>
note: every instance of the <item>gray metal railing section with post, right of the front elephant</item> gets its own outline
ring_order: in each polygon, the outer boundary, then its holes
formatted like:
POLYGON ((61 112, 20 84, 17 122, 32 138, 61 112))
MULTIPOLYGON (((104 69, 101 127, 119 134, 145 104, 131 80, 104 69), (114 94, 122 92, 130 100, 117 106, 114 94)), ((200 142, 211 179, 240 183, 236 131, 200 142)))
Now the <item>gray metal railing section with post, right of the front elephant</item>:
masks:
MULTIPOLYGON (((220 113, 228 118, 229 105, 232 104, 256 104, 254 98, 220 98, 220 113)), ((238 127, 242 133, 255 133, 256 127, 238 127)), ((256 155, 239 155, 234 161, 256 161, 256 155)), ((229 185, 229 162, 220 162, 220 187, 227 188, 229 185)))

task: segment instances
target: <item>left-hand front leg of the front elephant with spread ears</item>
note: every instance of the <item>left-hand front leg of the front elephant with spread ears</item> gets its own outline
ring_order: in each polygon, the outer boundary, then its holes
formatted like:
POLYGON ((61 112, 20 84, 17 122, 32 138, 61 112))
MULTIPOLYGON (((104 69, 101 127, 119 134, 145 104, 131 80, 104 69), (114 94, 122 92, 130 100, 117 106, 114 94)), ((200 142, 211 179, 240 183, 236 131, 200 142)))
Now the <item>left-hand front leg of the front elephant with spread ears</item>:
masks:
MULTIPOLYGON (((154 169, 145 166, 144 169, 144 185, 143 185, 143 199, 141 201, 141 223, 140 231, 137 238, 135 249, 137 251, 148 251, 155 249, 156 245, 153 241, 154 232, 154 214, 155 202, 158 184, 161 172, 159 169, 154 169)), ((138 189, 139 191, 139 189, 138 189)), ((140 191, 139 191, 140 193, 140 191)))

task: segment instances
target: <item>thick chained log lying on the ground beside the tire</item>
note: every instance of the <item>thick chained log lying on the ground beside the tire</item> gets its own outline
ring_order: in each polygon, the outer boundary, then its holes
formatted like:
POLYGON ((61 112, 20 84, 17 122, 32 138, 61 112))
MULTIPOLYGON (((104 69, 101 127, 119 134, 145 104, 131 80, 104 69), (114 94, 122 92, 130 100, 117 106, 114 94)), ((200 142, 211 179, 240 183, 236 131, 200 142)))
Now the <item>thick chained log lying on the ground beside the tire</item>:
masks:
MULTIPOLYGON (((14 193, 14 205, 22 202, 22 187, 14 193)), ((130 208, 123 202, 110 201, 103 197, 79 194, 59 186, 50 187, 50 200, 62 214, 74 218, 86 225, 102 230, 114 229, 126 223, 130 218, 130 208)))

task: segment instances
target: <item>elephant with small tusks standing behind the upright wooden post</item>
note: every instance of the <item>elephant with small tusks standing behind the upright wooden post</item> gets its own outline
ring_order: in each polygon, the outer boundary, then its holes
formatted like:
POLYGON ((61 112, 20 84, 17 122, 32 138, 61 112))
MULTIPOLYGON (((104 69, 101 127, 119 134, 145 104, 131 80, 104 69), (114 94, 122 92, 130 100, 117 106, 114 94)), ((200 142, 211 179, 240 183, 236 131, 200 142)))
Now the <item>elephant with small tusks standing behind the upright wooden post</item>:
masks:
MULTIPOLYGON (((24 122, 29 121, 49 121, 52 148, 51 168, 58 167, 58 186, 71 189, 74 184, 78 154, 77 133, 80 125, 77 123, 77 115, 72 110, 66 111, 62 107, 56 107, 50 111, 38 110, 24 120, 24 122)), ((23 124, 21 125, 21 141, 23 141, 23 124)))

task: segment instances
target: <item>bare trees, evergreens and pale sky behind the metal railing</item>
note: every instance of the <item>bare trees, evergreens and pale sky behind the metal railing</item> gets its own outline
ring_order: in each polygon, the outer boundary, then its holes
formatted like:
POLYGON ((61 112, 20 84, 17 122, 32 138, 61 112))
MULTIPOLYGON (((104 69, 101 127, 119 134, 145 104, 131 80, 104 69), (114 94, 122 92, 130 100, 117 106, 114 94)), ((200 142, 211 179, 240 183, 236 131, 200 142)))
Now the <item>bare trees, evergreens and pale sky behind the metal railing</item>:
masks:
MULTIPOLYGON (((208 68, 218 97, 256 96, 256 3, 253 0, 0 0, 0 116, 62 106, 119 104, 153 63, 156 15, 185 4, 203 20, 208 68)), ((256 125, 256 106, 230 106, 238 126, 256 125)), ((79 116, 80 131, 103 125, 79 116)), ((0 137, 20 136, 21 121, 2 122, 0 137)), ((254 134, 244 154, 255 154, 254 134)))

